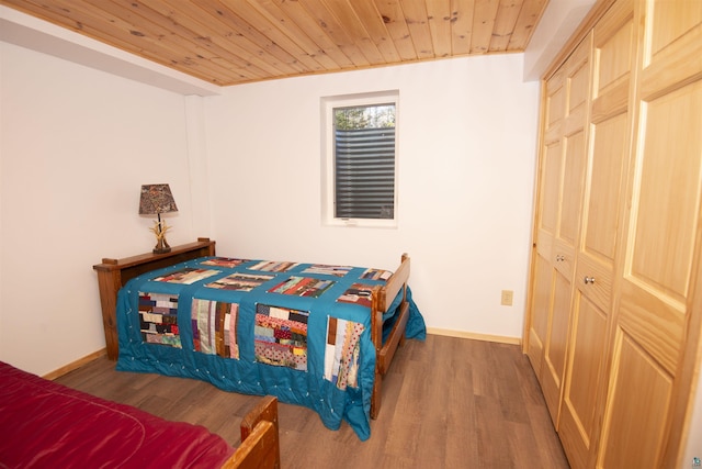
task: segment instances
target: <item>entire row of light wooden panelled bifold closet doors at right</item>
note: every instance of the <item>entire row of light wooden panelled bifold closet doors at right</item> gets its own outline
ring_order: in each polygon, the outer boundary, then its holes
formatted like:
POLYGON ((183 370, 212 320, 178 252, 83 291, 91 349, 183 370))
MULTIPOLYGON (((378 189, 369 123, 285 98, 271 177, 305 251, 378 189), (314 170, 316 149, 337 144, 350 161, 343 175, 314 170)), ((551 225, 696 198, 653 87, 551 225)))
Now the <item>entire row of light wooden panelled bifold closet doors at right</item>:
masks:
POLYGON ((574 468, 681 467, 702 330, 702 2, 599 1, 588 22, 543 80, 524 351, 574 468))

